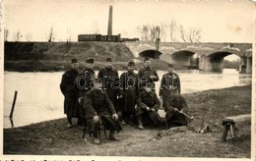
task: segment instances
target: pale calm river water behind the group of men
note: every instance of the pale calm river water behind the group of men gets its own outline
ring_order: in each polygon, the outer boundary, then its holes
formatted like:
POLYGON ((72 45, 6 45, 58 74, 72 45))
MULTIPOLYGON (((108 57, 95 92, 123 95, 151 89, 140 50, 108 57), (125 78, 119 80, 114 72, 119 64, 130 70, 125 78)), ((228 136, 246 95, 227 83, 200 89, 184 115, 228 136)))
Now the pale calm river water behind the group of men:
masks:
MULTIPOLYGON (((119 72, 122 74, 123 71, 119 72)), ((166 72, 158 71, 160 78, 166 72)), ((176 72, 181 80, 181 93, 224 88, 251 83, 251 75, 238 74, 236 70, 224 69, 222 74, 204 73, 198 70, 176 72)), ((14 92, 18 90, 13 114, 14 127, 22 127, 42 121, 65 117, 64 97, 59 83, 63 72, 55 73, 4 73, 4 128, 11 128, 9 115, 14 92)), ((96 72, 97 74, 97 72, 96 72)), ((160 80, 156 82, 159 93, 160 80)))

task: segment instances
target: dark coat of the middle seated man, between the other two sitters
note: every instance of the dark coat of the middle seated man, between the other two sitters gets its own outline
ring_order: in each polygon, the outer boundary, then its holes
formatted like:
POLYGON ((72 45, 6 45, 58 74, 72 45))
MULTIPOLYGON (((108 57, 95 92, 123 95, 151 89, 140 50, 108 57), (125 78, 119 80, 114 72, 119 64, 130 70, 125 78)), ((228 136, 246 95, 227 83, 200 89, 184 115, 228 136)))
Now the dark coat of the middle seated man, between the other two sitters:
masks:
POLYGON ((160 115, 158 110, 160 109, 160 100, 155 91, 146 92, 145 90, 139 93, 139 96, 136 100, 137 109, 135 116, 140 116, 148 114, 151 121, 157 125, 160 122, 160 115), (154 108, 156 111, 147 111, 146 108, 154 108))

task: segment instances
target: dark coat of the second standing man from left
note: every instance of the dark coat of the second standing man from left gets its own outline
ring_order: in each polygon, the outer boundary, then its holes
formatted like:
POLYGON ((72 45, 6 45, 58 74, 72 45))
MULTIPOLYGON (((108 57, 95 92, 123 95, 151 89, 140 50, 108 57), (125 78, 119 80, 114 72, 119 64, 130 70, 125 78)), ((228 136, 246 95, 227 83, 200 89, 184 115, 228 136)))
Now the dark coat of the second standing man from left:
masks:
POLYGON ((95 77, 96 77, 96 73, 94 70, 85 68, 82 72, 79 73, 79 75, 77 76, 77 78, 75 80, 78 98, 83 98, 81 105, 79 104, 78 99, 76 102, 75 116, 77 116, 77 117, 83 118, 85 116, 85 112, 82 107, 84 104, 84 98, 85 98, 86 93, 90 89, 92 89, 93 78, 95 78, 95 77))

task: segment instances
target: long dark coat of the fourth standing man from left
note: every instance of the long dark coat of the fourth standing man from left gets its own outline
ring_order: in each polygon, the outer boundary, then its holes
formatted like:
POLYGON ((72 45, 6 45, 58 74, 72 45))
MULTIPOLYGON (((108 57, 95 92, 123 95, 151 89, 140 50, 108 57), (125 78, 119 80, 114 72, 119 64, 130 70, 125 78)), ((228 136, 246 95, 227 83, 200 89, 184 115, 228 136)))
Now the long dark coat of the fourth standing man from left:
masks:
POLYGON ((138 96, 138 76, 134 72, 126 72, 121 75, 120 80, 120 95, 123 95, 123 99, 119 110, 135 113, 136 98, 138 96))

